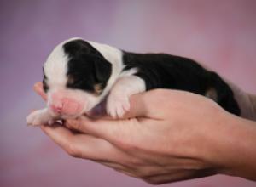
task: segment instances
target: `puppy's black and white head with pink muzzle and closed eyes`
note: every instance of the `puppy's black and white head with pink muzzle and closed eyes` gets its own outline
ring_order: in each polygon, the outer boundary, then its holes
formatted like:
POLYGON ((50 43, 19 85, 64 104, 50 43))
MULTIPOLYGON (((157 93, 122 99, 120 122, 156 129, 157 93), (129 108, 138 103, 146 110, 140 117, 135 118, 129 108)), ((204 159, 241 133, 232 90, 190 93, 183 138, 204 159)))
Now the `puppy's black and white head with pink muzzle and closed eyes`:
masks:
POLYGON ((111 71, 112 65, 90 42, 61 42, 44 63, 49 111, 64 118, 90 111, 102 100, 111 71))

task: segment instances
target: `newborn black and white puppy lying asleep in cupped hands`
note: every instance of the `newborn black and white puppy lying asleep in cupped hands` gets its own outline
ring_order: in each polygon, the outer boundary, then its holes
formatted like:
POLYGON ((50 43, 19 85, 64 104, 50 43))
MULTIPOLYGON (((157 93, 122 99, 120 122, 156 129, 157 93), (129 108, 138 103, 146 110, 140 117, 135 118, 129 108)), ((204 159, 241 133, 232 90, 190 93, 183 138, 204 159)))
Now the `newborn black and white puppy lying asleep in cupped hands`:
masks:
POLYGON ((27 116, 27 123, 33 126, 88 114, 103 99, 108 115, 121 117, 130 109, 132 94, 154 88, 205 95, 240 115, 223 79, 192 59, 170 54, 134 54, 71 38, 54 48, 43 71, 47 107, 27 116))

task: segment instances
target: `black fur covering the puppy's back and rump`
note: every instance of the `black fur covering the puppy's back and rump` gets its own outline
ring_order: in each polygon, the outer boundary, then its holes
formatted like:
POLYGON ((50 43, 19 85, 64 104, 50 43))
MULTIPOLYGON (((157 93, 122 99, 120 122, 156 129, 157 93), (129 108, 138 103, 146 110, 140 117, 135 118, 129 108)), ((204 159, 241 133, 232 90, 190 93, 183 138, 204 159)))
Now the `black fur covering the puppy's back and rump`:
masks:
MULTIPOLYGON (((169 54, 133 54, 124 52, 125 70, 137 68, 137 76, 146 88, 172 88, 206 95, 210 88, 217 94, 216 102, 226 111, 240 115, 240 109, 229 85, 218 74, 207 71, 192 59, 169 54)), ((196 106, 195 106, 196 107, 196 106)))

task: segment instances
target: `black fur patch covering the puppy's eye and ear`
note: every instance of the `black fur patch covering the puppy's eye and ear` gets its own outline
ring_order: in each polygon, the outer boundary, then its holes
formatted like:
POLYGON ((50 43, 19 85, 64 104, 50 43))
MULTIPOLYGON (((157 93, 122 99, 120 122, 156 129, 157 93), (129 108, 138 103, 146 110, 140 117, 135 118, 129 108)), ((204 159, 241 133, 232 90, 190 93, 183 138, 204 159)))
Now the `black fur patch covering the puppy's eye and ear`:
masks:
POLYGON ((104 89, 111 75, 111 64, 95 48, 83 40, 63 45, 68 55, 67 87, 95 92, 95 85, 104 89))

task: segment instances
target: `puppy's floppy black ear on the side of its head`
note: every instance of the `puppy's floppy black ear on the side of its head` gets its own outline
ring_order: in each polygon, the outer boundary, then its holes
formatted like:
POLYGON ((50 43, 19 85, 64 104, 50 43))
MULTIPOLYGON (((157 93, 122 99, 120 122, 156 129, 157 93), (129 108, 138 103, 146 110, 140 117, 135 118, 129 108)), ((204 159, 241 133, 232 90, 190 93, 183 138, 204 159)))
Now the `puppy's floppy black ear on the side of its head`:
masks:
POLYGON ((96 57, 94 65, 96 70, 96 81, 100 83, 107 82, 112 72, 112 64, 110 64, 106 59, 96 57))

